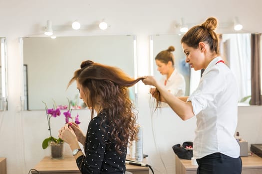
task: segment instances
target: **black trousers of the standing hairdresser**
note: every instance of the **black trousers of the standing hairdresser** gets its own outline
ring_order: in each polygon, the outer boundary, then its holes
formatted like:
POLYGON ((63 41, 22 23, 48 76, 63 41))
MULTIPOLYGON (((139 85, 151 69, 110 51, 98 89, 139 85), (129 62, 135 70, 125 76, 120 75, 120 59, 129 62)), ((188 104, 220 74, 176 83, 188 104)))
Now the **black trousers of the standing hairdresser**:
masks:
POLYGON ((197 174, 241 174, 241 158, 232 158, 221 153, 197 159, 197 174))

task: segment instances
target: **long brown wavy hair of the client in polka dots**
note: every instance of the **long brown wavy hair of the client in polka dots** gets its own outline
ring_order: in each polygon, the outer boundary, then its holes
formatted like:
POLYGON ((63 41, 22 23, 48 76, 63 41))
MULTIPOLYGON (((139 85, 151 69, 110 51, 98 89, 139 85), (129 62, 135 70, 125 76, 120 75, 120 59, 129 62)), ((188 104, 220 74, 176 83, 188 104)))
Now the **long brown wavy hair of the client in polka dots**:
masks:
MULTIPOLYGON (((107 122, 108 127, 111 128, 108 138, 116 142, 115 149, 121 154, 119 149, 126 148, 127 142, 135 140, 138 132, 128 87, 132 87, 144 78, 133 79, 117 67, 90 60, 82 62, 80 67, 74 72, 68 86, 73 81, 77 81, 82 87, 85 94, 83 100, 91 109, 91 118, 94 117, 95 105, 99 104, 103 108, 107 119, 110 120, 107 122)), ((101 129, 103 130, 102 127, 101 129)))

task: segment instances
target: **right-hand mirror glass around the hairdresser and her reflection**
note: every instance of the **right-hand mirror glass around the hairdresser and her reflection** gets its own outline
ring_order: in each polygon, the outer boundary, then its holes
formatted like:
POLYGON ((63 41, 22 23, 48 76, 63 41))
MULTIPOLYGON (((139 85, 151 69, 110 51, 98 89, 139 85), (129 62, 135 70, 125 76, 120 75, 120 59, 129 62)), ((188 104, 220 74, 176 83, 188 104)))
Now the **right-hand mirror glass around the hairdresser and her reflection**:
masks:
MULTIPOLYGON (((249 105, 249 96, 251 95, 251 34, 235 33, 220 34, 220 52, 227 65, 236 76, 239 86, 239 105, 249 105), (243 98, 247 100, 241 102, 243 98)), ((185 65, 185 55, 180 43, 182 35, 154 35, 152 36, 153 56, 151 65, 153 65, 153 75, 159 79, 162 75, 157 71, 155 56, 162 50, 168 49, 170 45, 175 47, 175 64, 178 71, 186 80, 186 95, 191 93, 192 72, 185 65), (190 80, 191 79, 191 80, 190 80)), ((201 75, 201 74, 200 74, 201 75)), ((200 78, 200 77, 199 77, 200 78)), ((198 83, 198 81, 196 82, 198 83)), ((197 86, 198 84, 195 84, 197 86)))

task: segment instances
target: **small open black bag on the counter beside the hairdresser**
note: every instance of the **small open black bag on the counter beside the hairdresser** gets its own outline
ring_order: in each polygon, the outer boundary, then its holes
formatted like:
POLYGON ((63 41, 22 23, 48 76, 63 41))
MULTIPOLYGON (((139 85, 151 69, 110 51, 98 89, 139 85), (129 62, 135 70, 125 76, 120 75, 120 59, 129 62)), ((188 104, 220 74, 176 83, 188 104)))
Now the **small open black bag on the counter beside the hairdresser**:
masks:
POLYGON ((184 142, 182 146, 180 144, 176 144, 172 147, 172 149, 181 159, 191 160, 193 157, 193 142, 191 141, 184 142))

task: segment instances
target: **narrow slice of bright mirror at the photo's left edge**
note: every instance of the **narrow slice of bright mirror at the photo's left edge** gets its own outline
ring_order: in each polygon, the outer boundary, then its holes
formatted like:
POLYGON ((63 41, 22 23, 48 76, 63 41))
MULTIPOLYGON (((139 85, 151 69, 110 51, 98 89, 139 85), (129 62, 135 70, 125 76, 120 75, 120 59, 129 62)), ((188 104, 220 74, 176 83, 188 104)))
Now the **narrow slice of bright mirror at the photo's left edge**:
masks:
POLYGON ((4 37, 0 37, 0 110, 7 110, 7 58, 6 58, 6 40, 4 37))

